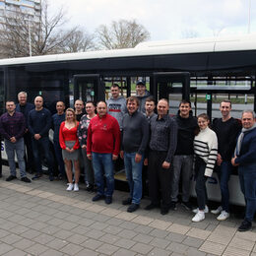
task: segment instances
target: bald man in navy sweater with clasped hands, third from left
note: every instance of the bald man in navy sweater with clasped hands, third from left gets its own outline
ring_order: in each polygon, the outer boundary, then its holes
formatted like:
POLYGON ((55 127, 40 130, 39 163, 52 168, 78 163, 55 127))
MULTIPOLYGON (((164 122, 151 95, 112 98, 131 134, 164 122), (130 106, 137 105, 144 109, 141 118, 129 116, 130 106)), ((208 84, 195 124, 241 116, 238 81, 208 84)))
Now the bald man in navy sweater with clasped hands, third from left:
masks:
POLYGON ((32 134, 32 152, 36 174, 32 179, 38 179, 42 175, 41 156, 44 156, 49 172, 49 180, 53 180, 53 158, 49 145, 49 129, 51 127, 51 113, 44 108, 42 96, 35 96, 35 108, 29 114, 29 130, 32 134))

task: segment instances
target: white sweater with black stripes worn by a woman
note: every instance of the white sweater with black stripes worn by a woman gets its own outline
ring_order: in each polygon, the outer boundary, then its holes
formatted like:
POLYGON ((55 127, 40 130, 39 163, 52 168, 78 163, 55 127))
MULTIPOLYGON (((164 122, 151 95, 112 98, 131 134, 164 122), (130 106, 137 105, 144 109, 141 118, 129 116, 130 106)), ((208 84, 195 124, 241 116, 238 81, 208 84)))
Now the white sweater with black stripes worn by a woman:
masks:
POLYGON ((206 162, 205 175, 211 177, 218 155, 218 139, 216 133, 209 127, 195 136, 194 152, 206 162))

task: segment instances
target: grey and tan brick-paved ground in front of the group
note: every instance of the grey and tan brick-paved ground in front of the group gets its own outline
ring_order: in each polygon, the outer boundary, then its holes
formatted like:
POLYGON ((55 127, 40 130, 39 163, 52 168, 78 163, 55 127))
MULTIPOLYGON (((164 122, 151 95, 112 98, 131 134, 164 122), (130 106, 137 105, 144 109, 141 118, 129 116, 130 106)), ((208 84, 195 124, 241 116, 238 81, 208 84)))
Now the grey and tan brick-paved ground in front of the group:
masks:
MULTIPOLYGON (((223 223, 208 214, 199 224, 178 207, 126 212, 127 193, 115 191, 110 206, 92 202, 93 194, 67 192, 64 181, 42 177, 30 184, 0 179, 0 255, 229 255, 256 256, 256 224, 240 233, 241 220, 223 223)), ((142 208, 149 202, 142 201, 142 208)))

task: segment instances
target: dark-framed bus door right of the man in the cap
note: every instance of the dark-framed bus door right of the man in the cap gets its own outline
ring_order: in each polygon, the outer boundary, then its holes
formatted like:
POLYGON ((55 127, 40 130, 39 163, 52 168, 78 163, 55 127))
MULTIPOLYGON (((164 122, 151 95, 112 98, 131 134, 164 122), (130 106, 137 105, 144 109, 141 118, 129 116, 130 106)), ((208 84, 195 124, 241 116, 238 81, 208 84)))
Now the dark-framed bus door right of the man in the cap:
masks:
POLYGON ((160 72, 154 73, 154 87, 151 94, 158 101, 167 98, 169 101, 169 113, 176 114, 179 102, 182 99, 189 100, 190 74, 189 72, 160 72))

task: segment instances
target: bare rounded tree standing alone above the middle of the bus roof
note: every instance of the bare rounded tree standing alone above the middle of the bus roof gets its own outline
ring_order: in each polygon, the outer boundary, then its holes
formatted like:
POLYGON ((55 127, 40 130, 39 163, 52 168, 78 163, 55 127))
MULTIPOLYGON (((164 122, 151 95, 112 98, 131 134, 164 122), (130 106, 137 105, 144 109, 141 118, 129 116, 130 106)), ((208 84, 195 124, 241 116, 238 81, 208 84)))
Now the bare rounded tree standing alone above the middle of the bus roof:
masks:
POLYGON ((101 48, 133 48, 138 43, 148 40, 150 32, 135 20, 119 20, 112 22, 109 27, 99 26, 96 30, 96 37, 101 48))

